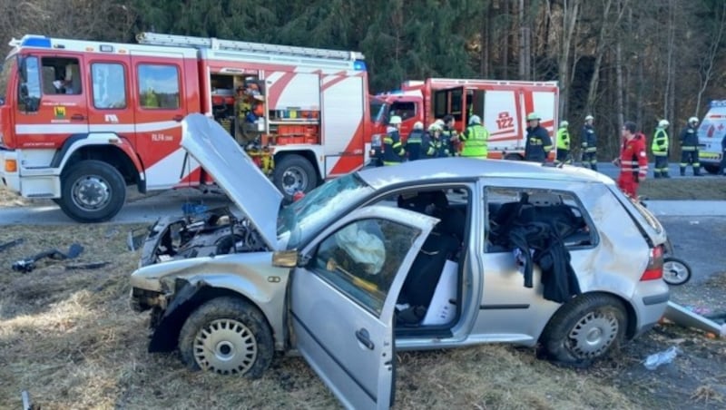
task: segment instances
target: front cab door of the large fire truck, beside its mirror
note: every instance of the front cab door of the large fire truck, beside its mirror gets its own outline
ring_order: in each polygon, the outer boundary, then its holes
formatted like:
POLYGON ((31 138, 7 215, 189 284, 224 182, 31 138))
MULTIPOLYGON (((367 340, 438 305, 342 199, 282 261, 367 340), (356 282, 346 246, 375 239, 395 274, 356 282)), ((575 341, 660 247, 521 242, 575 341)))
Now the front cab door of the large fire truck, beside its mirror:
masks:
POLYGON ((77 54, 25 56, 21 90, 35 103, 18 106, 15 129, 24 137, 22 147, 60 148, 69 136, 88 133, 89 88, 82 67, 83 56, 77 54))

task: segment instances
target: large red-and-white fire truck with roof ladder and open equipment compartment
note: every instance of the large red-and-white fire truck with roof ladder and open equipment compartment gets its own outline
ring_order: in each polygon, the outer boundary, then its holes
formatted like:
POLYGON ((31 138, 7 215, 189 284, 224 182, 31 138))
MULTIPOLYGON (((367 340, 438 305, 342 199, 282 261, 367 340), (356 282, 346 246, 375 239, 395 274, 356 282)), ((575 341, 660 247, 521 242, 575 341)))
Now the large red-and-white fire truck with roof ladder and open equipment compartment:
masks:
POLYGON ((191 112, 221 122, 289 197, 368 161, 362 54, 169 34, 137 39, 11 42, 0 74, 7 189, 97 222, 121 210, 129 185, 146 192, 211 183, 180 148, 191 112))

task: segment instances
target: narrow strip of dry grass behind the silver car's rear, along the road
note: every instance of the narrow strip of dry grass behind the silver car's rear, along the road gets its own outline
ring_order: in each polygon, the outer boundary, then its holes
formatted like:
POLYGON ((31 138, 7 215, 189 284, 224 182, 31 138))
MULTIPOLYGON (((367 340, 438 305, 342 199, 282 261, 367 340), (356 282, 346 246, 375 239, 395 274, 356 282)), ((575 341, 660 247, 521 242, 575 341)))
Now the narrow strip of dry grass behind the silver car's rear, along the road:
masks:
POLYGON ((649 178, 638 193, 650 200, 726 200, 726 178, 649 178))

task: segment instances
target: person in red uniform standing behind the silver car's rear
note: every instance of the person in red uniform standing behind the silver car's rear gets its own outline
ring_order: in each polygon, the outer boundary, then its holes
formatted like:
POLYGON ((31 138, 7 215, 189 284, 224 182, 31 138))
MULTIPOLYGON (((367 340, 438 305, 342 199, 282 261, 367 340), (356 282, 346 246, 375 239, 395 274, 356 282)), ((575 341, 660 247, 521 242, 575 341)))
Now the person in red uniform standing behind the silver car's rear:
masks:
POLYGON ((623 147, 620 157, 613 162, 620 167, 618 187, 625 194, 637 199, 638 185, 648 174, 648 154, 645 151, 643 134, 636 133, 635 122, 623 125, 623 147))

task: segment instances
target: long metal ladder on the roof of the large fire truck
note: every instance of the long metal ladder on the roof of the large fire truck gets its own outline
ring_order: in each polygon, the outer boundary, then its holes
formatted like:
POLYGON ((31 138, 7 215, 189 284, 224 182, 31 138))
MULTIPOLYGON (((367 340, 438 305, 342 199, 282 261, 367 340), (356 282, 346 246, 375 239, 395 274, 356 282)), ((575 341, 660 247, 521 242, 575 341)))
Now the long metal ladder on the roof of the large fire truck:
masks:
POLYGON ((175 47, 210 48, 212 50, 286 54, 302 57, 326 58, 329 60, 355 61, 364 59, 363 54, 358 52, 297 47, 293 45, 220 40, 215 37, 192 37, 190 35, 157 34, 147 32, 137 34, 136 41, 139 42, 139 44, 149 45, 166 45, 175 47))

